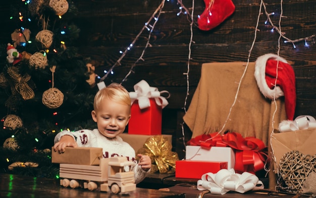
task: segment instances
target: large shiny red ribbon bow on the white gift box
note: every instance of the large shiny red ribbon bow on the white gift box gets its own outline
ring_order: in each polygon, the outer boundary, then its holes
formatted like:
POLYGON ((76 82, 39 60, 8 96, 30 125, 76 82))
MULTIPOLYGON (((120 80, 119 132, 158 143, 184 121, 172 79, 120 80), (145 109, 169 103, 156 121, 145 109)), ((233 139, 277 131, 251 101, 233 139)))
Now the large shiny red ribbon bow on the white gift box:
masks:
POLYGON ((255 172, 264 169, 268 159, 267 147, 257 138, 243 138, 238 133, 220 135, 212 133, 197 136, 187 142, 190 146, 200 146, 204 149, 210 147, 231 147, 235 150, 235 171, 237 173, 255 172))

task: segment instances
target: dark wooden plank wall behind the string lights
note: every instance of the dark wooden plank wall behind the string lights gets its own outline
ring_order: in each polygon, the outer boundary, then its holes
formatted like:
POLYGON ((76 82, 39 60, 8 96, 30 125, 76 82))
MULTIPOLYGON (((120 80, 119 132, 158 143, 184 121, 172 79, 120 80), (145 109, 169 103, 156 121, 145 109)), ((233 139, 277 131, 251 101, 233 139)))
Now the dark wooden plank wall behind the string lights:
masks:
MULTIPOLYGON (((207 2, 207 1, 206 1, 207 2)), ((281 1, 269 0, 264 4, 273 23, 279 25, 281 1)), ((182 2, 192 12, 192 1, 182 2)), ((204 10, 204 2, 194 1, 193 42, 191 59, 188 67, 190 21, 188 16, 180 14, 179 4, 175 0, 165 2, 145 48, 148 31, 144 30, 135 45, 114 68, 114 74, 108 75, 105 82, 122 82, 134 62, 144 51, 144 61, 139 61, 123 85, 133 91, 133 85, 145 80, 152 87, 170 92, 169 105, 163 111, 164 133, 175 133, 178 138, 177 151, 183 157, 182 116, 187 109, 198 84, 201 64, 204 62, 247 61, 252 46, 257 18, 256 40, 250 54, 250 61, 260 55, 278 52, 279 34, 270 25, 265 25, 267 16, 260 1, 233 0, 236 10, 224 23, 211 31, 201 31, 196 27, 197 15, 204 10), (189 78, 187 73, 189 68, 189 78), (187 90, 189 90, 187 92, 187 90), (187 95, 188 94, 188 95, 187 95), (186 96, 187 100, 186 100, 186 96), (186 103, 185 103, 186 102, 186 103)), ((161 1, 110 1, 78 0, 80 11, 77 24, 81 28, 81 53, 95 60, 97 73, 109 70, 121 57, 120 50, 136 38, 161 1)), ((316 31, 316 0, 283 1, 281 30, 289 39, 295 40, 311 36, 316 31)), ((292 62, 296 74, 297 108, 295 115, 316 116, 316 44, 311 40, 304 46, 304 40, 295 43, 284 43, 280 39, 280 55, 292 62)), ((190 138, 190 131, 185 128, 185 139, 190 138)), ((174 135, 175 135, 174 134, 174 135)))

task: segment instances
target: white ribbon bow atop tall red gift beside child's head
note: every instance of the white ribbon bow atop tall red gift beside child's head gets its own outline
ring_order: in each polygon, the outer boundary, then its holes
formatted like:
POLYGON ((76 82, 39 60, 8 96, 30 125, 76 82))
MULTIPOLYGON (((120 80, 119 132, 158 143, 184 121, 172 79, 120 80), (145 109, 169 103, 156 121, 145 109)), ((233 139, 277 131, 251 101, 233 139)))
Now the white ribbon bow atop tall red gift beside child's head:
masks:
MULTIPOLYGON (((140 109, 150 107, 149 98, 154 98, 157 105, 165 108, 169 103, 167 99, 161 96, 161 93, 170 93, 168 91, 158 91, 156 87, 150 87, 148 83, 144 80, 139 81, 134 85, 135 92, 129 92, 132 99, 132 104, 135 100, 138 100, 138 105, 140 109)), ((169 98, 169 96, 167 98, 169 98)))

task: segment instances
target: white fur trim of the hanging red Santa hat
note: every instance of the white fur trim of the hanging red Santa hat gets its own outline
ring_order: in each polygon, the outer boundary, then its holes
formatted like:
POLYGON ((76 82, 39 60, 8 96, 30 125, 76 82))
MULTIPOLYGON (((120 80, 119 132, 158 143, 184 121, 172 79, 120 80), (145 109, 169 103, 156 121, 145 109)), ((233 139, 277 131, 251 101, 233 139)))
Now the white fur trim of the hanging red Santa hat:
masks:
POLYGON ((273 53, 267 53, 265 55, 259 56, 255 61, 254 66, 254 78, 257 81, 258 87, 260 92, 269 99, 274 99, 274 97, 277 99, 280 96, 284 96, 283 91, 280 87, 275 87, 274 89, 270 89, 270 87, 267 85, 266 81, 266 64, 269 59, 275 59, 285 63, 288 63, 286 59, 282 58, 281 56, 278 56, 273 53))

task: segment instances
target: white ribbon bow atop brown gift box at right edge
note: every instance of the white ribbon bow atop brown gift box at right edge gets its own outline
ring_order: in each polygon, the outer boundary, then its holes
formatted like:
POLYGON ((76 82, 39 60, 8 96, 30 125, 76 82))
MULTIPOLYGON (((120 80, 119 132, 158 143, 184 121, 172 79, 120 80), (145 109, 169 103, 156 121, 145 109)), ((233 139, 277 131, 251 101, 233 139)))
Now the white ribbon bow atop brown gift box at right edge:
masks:
POLYGON ((294 120, 284 120, 279 124, 280 132, 316 128, 316 120, 310 115, 300 115, 294 120))

